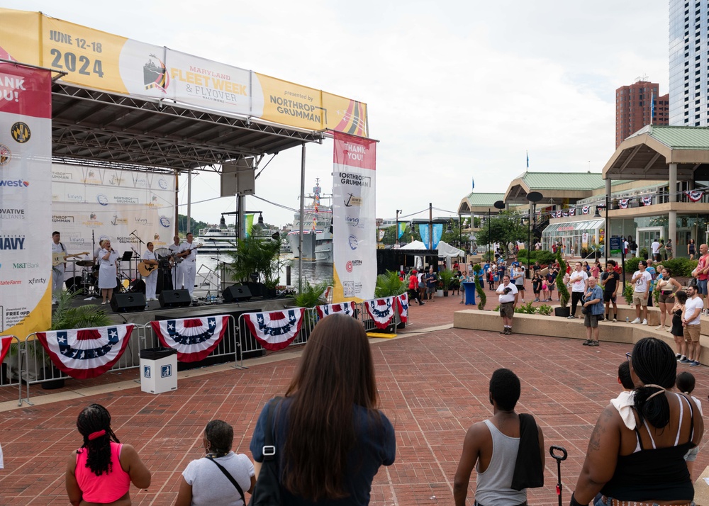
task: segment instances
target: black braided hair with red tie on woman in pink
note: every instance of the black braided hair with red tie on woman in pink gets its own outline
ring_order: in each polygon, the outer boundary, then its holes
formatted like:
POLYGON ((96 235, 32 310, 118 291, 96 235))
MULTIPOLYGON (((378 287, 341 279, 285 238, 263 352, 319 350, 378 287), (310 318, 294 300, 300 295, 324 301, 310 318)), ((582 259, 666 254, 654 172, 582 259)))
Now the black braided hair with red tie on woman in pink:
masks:
POLYGON ((84 407, 77 418, 77 429, 84 437, 84 444, 78 450, 86 449, 86 467, 96 476, 111 473, 111 441, 120 443, 111 430, 111 415, 100 404, 84 407))

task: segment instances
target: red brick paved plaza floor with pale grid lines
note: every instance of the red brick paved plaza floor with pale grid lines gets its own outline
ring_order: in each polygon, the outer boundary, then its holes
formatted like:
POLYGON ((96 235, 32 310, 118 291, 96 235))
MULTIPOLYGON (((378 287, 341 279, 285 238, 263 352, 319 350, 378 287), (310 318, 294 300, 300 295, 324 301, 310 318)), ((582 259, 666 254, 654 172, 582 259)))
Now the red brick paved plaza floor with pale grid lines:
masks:
MULTIPOLYGON (((630 345, 604 342, 589 349, 578 340, 456 330, 450 322, 454 310, 464 307, 458 301, 442 298, 422 308, 414 305, 411 326, 403 337, 372 345, 381 406, 396 429, 397 449, 396 463, 381 468, 374 480, 371 504, 452 504, 452 481, 465 431, 472 422, 491 415, 488 381, 499 367, 520 376, 518 410, 537 416, 546 446, 557 444, 569 451, 569 460, 562 465, 564 503, 568 503, 591 429, 601 409, 618 393, 615 373, 630 345)), ((549 325, 553 322, 549 317, 549 325)), ((279 355, 269 359, 274 356, 279 355)), ((213 418, 230 422, 235 451, 250 455, 261 407, 284 392, 296 361, 247 364, 245 371, 217 366, 216 372, 189 372, 190 377, 180 379, 177 391, 161 395, 142 393, 130 381, 137 371, 111 378, 114 383, 106 393, 47 404, 40 402, 67 394, 76 397, 73 390, 85 395, 80 390, 84 385, 67 381, 65 393, 58 394, 33 387, 34 407, 11 409, 12 401, 0 403, 6 467, 0 470, 0 504, 67 504, 63 473, 69 453, 81 444, 76 417, 84 405, 96 402, 108 407, 118 437, 133 444, 152 471, 150 490, 131 490, 133 503, 172 505, 180 473, 203 454, 201 431, 206 422, 213 418)), ((691 371, 697 377, 696 396, 706 399, 707 368, 691 371)), ((704 446, 696 476, 709 463, 704 446)), ((547 458, 545 487, 530 492, 531 503, 556 504, 555 483, 556 463, 547 458)))

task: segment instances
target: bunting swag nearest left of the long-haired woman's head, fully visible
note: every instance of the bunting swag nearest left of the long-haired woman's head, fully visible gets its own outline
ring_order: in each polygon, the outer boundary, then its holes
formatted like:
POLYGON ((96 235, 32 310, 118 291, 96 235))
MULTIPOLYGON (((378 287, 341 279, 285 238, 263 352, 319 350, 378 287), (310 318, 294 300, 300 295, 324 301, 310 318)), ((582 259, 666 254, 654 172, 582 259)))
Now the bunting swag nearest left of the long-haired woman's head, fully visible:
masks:
POLYGON ((247 313, 244 320, 251 334, 265 348, 272 352, 287 347, 303 325, 303 308, 269 313, 247 313))

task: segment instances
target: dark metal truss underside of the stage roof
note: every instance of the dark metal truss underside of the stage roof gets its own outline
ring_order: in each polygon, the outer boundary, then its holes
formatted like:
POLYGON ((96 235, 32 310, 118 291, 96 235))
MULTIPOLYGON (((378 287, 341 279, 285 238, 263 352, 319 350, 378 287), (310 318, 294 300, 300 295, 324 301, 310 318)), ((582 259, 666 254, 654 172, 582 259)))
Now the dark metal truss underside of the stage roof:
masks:
POLYGON ((277 154, 323 132, 186 108, 55 82, 52 158, 57 162, 129 170, 219 172, 242 157, 277 154))

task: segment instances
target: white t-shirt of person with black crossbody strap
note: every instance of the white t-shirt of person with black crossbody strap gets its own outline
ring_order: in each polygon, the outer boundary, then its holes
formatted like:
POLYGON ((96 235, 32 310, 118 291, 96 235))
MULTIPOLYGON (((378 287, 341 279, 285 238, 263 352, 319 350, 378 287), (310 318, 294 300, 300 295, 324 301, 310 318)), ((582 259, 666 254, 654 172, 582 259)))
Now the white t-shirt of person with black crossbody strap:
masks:
MULTIPOLYGON (((231 474, 244 493, 251 488, 254 464, 244 454, 230 451, 214 459, 231 474)), ((192 506, 242 506, 238 490, 224 473, 206 457, 191 461, 182 471, 182 477, 192 485, 192 506)))

